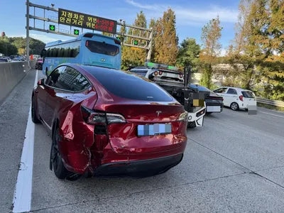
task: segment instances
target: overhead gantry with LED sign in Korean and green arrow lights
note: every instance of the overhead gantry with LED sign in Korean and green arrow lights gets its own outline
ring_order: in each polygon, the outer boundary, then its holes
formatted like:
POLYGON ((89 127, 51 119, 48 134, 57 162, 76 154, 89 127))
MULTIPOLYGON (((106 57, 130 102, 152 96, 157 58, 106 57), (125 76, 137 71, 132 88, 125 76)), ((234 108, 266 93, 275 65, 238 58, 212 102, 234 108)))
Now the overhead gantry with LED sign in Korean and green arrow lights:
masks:
POLYGON ((93 16, 76 11, 70 11, 67 9, 55 9, 54 4, 52 6, 42 6, 33 4, 29 0, 26 0, 26 56, 29 57, 29 31, 40 31, 45 33, 54 33, 58 35, 67 35, 77 37, 80 33, 87 31, 101 31, 109 33, 114 37, 121 39, 121 45, 129 46, 132 48, 145 49, 147 52, 147 61, 151 59, 152 44, 153 44, 153 31, 152 29, 142 28, 138 26, 131 26, 126 24, 125 21, 119 19, 119 21, 111 20, 109 18, 102 18, 99 16, 93 16), (30 13, 30 9, 33 9, 33 14, 30 13), (35 15, 35 9, 43 10, 43 13, 39 13, 40 16, 35 15), (47 14, 47 13, 53 13, 47 14), (31 21, 33 20, 33 26, 31 21), (38 24, 36 21, 41 21, 43 24, 38 24), (48 26, 46 26, 48 23, 48 26), (70 28, 66 28, 66 27, 70 28), (124 31, 118 31, 117 26, 124 28, 124 31), (80 28, 80 29, 78 29, 80 28), (126 30, 131 29, 131 34, 124 33, 126 30))

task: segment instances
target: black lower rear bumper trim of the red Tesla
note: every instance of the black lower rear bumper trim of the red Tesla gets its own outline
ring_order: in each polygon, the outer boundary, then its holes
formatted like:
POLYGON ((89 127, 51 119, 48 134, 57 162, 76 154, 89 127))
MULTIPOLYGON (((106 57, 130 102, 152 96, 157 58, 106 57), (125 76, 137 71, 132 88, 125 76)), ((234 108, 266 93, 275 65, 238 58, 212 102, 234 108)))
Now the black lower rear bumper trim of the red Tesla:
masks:
POLYGON ((183 154, 180 153, 163 158, 106 163, 94 170, 94 176, 144 178, 158 175, 178 165, 182 157, 183 154))

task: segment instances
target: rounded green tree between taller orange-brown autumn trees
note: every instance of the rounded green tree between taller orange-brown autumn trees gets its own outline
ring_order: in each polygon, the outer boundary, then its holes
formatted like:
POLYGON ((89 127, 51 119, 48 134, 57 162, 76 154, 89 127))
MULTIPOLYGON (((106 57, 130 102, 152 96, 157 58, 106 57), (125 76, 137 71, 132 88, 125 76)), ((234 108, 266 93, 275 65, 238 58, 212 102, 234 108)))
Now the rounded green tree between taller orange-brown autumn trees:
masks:
POLYGON ((194 38, 186 38, 182 40, 180 48, 178 49, 177 65, 179 67, 185 67, 190 65, 192 71, 197 71, 197 65, 199 65, 200 45, 196 43, 194 38))

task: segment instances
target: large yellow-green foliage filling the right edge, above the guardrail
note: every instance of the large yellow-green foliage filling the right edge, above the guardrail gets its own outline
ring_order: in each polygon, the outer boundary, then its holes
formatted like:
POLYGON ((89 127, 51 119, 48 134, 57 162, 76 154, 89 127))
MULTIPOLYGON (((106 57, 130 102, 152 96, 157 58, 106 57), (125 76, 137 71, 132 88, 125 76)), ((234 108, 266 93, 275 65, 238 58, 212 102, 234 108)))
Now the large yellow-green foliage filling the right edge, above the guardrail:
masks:
POLYGON ((284 1, 242 0, 231 72, 241 87, 284 99, 284 1))

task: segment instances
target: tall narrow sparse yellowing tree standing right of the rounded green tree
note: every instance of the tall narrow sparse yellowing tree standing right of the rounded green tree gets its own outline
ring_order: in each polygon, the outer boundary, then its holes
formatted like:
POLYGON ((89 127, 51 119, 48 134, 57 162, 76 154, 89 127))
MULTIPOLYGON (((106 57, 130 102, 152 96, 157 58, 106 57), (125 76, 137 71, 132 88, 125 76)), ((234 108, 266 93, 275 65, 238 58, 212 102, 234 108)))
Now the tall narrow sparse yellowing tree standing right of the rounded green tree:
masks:
POLYGON ((217 62, 217 56, 221 51, 222 45, 219 43, 222 27, 220 26, 219 16, 213 18, 202 28, 202 51, 200 53, 200 65, 202 69, 202 79, 200 83, 205 87, 211 87, 213 68, 217 62))

